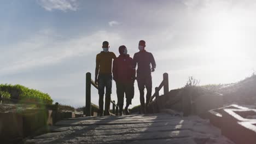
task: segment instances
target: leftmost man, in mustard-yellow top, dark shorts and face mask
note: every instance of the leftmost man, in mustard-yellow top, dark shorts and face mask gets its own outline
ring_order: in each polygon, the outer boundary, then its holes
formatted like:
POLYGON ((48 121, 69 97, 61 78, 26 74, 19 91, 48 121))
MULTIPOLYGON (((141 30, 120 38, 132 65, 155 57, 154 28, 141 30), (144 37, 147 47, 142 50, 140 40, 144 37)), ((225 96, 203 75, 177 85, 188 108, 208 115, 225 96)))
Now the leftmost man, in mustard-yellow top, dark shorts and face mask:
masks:
POLYGON ((108 41, 103 41, 102 49, 103 51, 98 53, 96 56, 95 83, 96 85, 98 84, 98 95, 100 96, 98 100, 100 116, 103 116, 103 98, 104 89, 106 87, 104 116, 109 116, 109 106, 112 93, 112 61, 117 57, 114 52, 108 51, 108 41))

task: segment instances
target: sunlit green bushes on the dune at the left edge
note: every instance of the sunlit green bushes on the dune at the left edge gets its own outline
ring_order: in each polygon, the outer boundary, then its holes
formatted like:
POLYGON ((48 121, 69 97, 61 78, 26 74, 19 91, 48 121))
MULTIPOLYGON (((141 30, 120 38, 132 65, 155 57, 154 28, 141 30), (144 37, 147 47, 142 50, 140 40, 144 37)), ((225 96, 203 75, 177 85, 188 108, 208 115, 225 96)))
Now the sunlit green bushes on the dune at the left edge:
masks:
POLYGON ((26 100, 37 103, 52 104, 53 100, 47 93, 42 93, 36 89, 30 89, 21 85, 0 85, 0 94, 4 98, 26 100))

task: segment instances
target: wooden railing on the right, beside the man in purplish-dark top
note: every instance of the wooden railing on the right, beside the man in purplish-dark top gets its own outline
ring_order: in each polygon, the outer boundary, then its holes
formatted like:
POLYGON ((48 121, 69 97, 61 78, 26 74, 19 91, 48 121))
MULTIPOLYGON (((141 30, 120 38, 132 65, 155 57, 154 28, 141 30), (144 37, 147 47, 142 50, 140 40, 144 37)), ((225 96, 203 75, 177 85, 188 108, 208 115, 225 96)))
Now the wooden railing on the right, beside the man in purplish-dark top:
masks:
POLYGON ((160 83, 160 85, 158 87, 155 87, 155 93, 152 95, 152 97, 150 98, 149 103, 151 103, 153 101, 153 99, 155 98, 156 100, 158 100, 159 97, 159 91, 161 90, 161 88, 164 87, 164 94, 169 92, 169 80, 168 80, 168 74, 164 73, 163 74, 163 80, 160 83))

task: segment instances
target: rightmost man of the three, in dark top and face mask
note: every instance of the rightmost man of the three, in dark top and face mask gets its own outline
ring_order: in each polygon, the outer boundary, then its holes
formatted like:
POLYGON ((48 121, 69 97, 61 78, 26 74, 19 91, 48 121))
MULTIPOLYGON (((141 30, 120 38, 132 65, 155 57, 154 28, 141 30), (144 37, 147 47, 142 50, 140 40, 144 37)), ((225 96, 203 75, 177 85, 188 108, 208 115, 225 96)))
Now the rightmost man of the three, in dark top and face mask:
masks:
POLYGON ((141 113, 145 113, 145 108, 147 108, 150 97, 152 95, 152 76, 151 72, 155 71, 155 59, 152 53, 145 50, 146 42, 144 40, 139 41, 138 49, 139 52, 135 53, 133 56, 133 67, 137 68, 137 82, 139 88, 139 95, 141 101, 141 113), (151 65, 150 65, 151 64, 151 65), (151 67, 152 66, 152 67, 151 67), (144 100, 144 89, 147 89, 146 96, 146 107, 144 100))

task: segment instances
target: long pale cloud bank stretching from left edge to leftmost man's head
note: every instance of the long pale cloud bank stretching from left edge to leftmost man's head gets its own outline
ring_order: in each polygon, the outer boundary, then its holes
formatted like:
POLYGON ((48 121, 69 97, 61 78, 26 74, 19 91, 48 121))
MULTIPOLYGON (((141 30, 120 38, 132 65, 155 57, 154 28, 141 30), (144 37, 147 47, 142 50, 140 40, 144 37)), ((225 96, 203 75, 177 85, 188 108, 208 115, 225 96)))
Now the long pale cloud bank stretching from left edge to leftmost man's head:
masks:
POLYGON ((96 31, 69 40, 59 40, 60 35, 48 29, 39 31, 21 43, 8 46, 0 57, 0 75, 19 73, 34 67, 53 65, 66 58, 88 56, 101 47, 102 41, 120 41, 117 33, 96 31))

